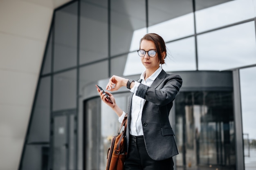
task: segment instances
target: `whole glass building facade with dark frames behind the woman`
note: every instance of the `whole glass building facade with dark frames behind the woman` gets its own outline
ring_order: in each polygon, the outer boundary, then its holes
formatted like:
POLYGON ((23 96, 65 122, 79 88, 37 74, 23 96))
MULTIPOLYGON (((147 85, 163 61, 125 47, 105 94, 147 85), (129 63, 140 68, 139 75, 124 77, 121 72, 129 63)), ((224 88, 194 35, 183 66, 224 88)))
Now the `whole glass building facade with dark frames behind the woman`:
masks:
MULTIPOLYGON (((146 33, 184 81, 175 170, 256 169, 256 0, 73 0, 54 10, 19 170, 105 170, 119 122, 95 84, 138 79, 146 33)), ((114 95, 126 111, 129 91, 114 95)))

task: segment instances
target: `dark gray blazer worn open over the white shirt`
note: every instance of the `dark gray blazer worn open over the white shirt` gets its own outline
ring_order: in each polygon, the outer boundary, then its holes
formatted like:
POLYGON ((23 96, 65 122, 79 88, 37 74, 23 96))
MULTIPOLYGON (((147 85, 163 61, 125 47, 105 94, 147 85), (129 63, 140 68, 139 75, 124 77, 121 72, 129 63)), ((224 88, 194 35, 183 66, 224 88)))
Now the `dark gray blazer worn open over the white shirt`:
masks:
MULTIPOLYGON (((141 80, 140 80, 141 82, 141 80)), ((146 99, 141 115, 144 141, 148 155, 154 160, 163 160, 178 154, 168 116, 173 100, 182 86, 180 75, 170 75, 164 70, 149 87, 140 84, 136 95, 146 99)), ((126 145, 129 148, 132 93, 128 105, 126 145)))

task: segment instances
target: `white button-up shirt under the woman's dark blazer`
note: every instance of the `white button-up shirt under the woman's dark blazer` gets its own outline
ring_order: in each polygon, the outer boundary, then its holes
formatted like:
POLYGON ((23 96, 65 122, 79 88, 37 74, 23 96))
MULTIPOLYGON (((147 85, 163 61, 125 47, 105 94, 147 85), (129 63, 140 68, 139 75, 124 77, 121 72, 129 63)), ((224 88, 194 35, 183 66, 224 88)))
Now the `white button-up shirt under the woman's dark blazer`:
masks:
MULTIPOLYGON (((157 78, 157 76, 160 74, 162 71, 162 67, 159 66, 159 68, 153 73, 150 77, 148 77, 145 81, 144 77, 146 75, 146 71, 144 71, 140 79, 142 79, 141 84, 145 84, 146 86, 151 86, 151 84, 154 82, 154 80, 157 78)), ((130 135, 133 136, 140 136, 143 135, 143 130, 142 130, 142 123, 141 123, 141 114, 142 114, 142 109, 145 103, 145 99, 138 97, 136 95, 139 82, 135 82, 135 85, 130 89, 130 92, 134 93, 135 95, 132 95, 132 116, 131 116, 131 123, 130 123, 130 135)), ((119 117, 119 122, 121 123, 122 120, 124 119, 125 112, 119 117)))

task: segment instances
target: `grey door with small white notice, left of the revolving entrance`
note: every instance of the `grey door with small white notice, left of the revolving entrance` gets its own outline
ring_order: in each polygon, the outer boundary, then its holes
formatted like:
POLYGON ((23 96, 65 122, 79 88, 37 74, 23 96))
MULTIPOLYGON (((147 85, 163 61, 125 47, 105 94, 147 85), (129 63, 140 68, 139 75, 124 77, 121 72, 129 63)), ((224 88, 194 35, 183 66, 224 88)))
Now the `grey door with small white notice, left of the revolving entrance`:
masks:
POLYGON ((75 110, 54 112, 52 121, 53 170, 74 170, 75 110))

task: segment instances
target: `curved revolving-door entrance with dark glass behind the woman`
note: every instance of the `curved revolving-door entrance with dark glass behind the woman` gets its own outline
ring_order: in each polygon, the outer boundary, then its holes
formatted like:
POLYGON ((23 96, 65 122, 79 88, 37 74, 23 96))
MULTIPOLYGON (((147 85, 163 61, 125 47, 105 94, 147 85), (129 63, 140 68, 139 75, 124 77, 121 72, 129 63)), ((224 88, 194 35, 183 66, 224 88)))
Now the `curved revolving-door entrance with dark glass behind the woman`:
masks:
MULTIPOLYGON (((174 157, 174 169, 236 170, 237 160, 243 159, 243 155, 236 152, 236 132, 240 129, 235 128, 232 72, 175 74, 182 77, 183 83, 169 115, 179 151, 174 157)), ((105 86, 108 81, 88 84, 84 90, 84 169, 88 170, 106 168, 110 139, 120 126, 115 112, 101 102, 96 90, 91 90, 95 89, 95 84, 105 86)), ((129 90, 120 88, 112 94, 119 107, 127 110, 129 90)))

